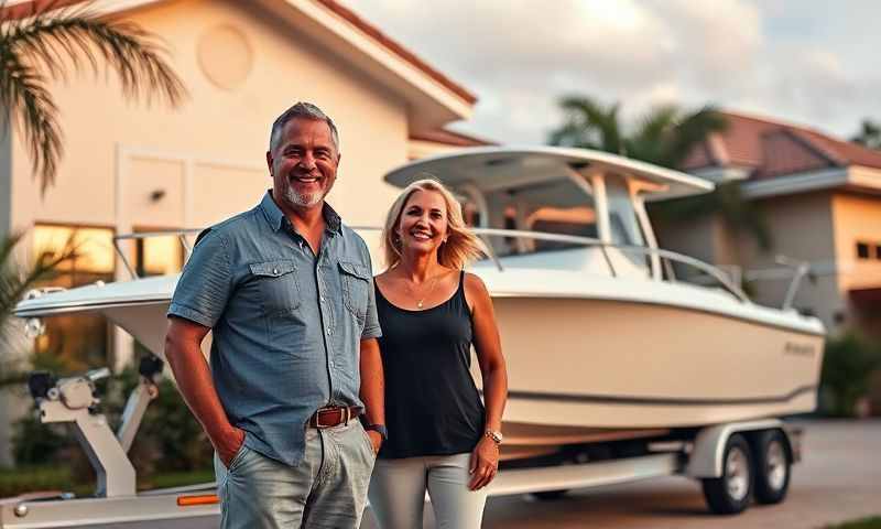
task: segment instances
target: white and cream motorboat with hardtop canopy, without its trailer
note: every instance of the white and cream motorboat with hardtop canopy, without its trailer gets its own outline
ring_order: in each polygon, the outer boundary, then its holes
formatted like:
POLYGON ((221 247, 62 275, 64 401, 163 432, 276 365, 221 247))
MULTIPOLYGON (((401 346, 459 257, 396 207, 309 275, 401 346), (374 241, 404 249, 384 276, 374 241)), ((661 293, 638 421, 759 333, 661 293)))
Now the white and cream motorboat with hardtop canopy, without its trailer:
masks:
MULTIPOLYGON (((505 456, 815 409, 822 322, 755 304, 722 270, 657 247, 645 203, 707 193, 710 182, 550 147, 463 149, 385 181, 404 187, 426 174, 461 197, 490 248, 471 271, 492 296, 508 364, 505 456), (534 229, 554 222, 576 235, 534 229)), ((52 292, 14 312, 98 312, 161 358, 178 277, 52 292)))

